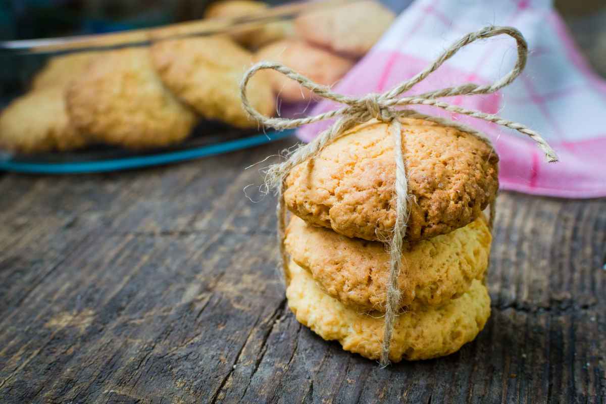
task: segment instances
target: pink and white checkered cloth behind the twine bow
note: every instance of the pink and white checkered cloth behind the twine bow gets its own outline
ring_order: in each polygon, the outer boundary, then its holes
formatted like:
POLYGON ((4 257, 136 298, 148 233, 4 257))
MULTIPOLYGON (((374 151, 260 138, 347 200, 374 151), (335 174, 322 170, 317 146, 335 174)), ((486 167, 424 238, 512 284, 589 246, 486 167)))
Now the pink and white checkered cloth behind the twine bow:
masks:
MULTIPOLYGON (((560 161, 548 164, 530 139, 507 128, 437 108, 419 110, 458 119, 488 134, 501 157, 500 180, 505 190, 575 198, 606 196, 606 81, 590 70, 550 0, 416 0, 335 91, 384 92, 421 71, 461 36, 490 24, 522 31, 530 46, 524 73, 497 94, 454 97, 449 102, 498 113, 539 131, 560 161)), ((493 82, 513 67, 515 58, 511 38, 475 42, 410 94, 469 81, 493 82)), ((333 102, 322 101, 311 113, 335 107, 333 102)), ((308 125, 298 136, 309 141, 327 125, 308 125)))

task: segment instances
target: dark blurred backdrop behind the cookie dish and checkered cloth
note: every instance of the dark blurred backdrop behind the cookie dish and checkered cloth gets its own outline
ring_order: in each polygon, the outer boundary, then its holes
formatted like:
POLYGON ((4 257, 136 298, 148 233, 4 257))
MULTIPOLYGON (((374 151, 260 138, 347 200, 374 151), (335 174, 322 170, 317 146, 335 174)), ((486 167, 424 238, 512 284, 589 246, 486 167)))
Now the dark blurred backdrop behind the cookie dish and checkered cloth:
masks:
MULTIPOLYGON (((382 0, 396 13, 412 0, 382 0)), ((0 2, 0 41, 87 35, 156 27, 171 22, 189 21, 204 16, 214 0, 4 0, 0 2)), ((288 3, 264 0, 270 5, 288 3)), ((574 39, 585 51, 593 67, 606 76, 606 1, 556 0, 574 39), (597 33, 597 34, 596 34, 597 33)), ((0 55, 0 92, 19 91, 23 83, 15 81, 15 70, 23 80, 44 62, 39 58, 0 55)))

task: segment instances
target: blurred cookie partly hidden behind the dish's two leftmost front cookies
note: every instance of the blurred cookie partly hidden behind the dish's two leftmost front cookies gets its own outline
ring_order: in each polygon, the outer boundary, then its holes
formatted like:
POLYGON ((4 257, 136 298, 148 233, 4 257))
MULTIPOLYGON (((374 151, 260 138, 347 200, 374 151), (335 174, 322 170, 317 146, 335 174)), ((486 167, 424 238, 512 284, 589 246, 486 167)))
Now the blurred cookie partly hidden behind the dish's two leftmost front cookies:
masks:
POLYGON ((50 58, 32 79, 32 90, 47 87, 65 88, 98 55, 99 52, 79 52, 50 58))

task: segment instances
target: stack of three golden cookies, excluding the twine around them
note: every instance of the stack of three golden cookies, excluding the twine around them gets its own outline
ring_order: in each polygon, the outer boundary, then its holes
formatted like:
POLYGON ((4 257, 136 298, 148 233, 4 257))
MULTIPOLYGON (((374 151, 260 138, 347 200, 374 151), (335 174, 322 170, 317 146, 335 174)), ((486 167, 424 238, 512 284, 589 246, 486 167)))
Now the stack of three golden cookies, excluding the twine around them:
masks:
MULTIPOLYGON (((484 327, 483 211, 498 190, 498 156, 456 128, 402 119, 402 152, 410 217, 392 362, 454 353, 484 327)), ((393 138, 378 121, 347 131, 285 182, 288 305, 316 334, 369 359, 381 356, 394 183, 393 138)))

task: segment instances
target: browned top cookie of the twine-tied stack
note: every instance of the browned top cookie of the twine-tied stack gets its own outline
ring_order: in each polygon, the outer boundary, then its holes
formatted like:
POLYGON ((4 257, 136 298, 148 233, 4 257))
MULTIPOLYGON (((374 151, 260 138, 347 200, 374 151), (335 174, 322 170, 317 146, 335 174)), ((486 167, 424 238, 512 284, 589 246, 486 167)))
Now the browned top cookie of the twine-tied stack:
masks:
MULTIPOLYGON (((451 127, 403 119, 410 216, 406 238, 428 239, 477 219, 496 197, 499 158, 490 146, 451 127)), ((395 157, 388 125, 347 131, 288 174, 290 211, 347 237, 385 240, 395 225, 395 157)))

